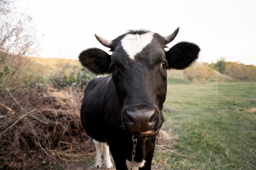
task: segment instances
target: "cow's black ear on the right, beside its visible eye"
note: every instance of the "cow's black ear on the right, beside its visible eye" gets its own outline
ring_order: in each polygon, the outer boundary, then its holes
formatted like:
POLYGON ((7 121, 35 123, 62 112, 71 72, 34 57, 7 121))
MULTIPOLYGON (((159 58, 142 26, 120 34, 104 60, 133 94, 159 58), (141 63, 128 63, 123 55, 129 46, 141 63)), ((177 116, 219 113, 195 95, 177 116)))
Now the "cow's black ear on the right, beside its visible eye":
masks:
POLYGON ((175 44, 169 51, 165 52, 169 69, 182 70, 190 66, 200 52, 199 46, 190 42, 180 42, 175 44))

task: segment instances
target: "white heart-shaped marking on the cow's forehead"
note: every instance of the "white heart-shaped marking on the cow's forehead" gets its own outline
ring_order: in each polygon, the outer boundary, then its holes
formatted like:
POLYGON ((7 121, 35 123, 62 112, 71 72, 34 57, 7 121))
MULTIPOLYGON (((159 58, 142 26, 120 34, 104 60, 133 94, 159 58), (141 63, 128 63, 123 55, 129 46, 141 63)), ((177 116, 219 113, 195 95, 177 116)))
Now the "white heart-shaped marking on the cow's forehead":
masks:
POLYGON ((123 49, 129 55, 131 60, 135 60, 134 57, 137 53, 147 46, 153 39, 154 33, 144 34, 127 34, 122 40, 121 44, 123 49))

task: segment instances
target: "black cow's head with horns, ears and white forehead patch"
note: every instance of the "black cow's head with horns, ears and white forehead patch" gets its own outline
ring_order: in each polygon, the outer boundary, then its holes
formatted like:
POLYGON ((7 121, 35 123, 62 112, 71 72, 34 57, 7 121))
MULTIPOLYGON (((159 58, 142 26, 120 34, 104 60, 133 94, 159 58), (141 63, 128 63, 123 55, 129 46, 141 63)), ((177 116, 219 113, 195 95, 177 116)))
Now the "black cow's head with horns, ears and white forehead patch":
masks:
POLYGON ((177 35, 162 37, 150 31, 129 31, 115 40, 95 35, 112 54, 97 48, 79 55, 83 66, 96 74, 111 73, 122 110, 124 128, 139 138, 155 137, 162 126, 167 69, 184 69, 198 58, 199 47, 180 42, 164 48, 177 35))

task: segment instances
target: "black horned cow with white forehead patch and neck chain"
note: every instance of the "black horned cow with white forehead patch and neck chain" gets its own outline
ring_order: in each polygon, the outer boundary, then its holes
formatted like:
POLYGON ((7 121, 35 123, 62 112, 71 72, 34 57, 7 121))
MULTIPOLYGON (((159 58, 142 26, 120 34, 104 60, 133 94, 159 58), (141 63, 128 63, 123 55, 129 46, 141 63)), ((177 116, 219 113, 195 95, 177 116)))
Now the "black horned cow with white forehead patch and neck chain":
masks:
POLYGON ((103 148, 106 168, 113 167, 111 152, 117 170, 128 170, 126 160, 131 161, 131 168, 151 169, 164 122, 167 70, 190 66, 200 52, 191 42, 166 49, 178 31, 163 37, 146 30, 130 30, 114 40, 95 34, 112 53, 99 48, 80 53, 82 66, 97 75, 107 74, 88 83, 81 105, 81 123, 96 146, 96 167, 103 165, 103 148))

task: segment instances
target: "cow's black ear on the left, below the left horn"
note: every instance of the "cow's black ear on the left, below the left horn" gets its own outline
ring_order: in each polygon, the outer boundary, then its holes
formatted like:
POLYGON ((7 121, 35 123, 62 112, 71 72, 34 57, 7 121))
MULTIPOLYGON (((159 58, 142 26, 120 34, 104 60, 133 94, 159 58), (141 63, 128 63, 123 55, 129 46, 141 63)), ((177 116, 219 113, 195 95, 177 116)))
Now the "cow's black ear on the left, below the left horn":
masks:
POLYGON ((98 48, 87 49, 80 53, 79 62, 95 74, 110 73, 111 55, 98 48))

